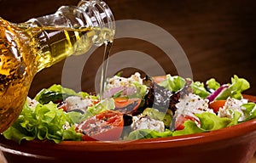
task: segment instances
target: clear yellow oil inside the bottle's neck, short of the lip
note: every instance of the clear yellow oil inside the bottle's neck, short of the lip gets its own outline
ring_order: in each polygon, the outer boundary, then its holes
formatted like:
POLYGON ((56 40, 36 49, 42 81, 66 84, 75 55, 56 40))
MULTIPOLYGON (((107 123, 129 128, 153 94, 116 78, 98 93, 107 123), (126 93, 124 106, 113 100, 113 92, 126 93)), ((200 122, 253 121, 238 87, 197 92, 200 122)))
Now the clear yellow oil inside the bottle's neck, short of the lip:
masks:
POLYGON ((93 44, 91 37, 95 35, 95 31, 90 28, 73 30, 44 27, 41 30, 36 39, 36 42, 40 40, 36 59, 38 70, 54 65, 73 53, 87 52, 93 44))

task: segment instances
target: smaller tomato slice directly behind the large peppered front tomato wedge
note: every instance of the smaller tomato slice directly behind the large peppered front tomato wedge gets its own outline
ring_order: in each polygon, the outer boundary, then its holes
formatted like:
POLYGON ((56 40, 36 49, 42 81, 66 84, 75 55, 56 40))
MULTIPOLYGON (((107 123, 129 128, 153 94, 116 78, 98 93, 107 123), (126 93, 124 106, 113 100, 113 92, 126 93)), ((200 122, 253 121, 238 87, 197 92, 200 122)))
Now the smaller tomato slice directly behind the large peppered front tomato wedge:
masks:
POLYGON ((141 98, 114 98, 115 110, 119 110, 123 114, 135 112, 141 102, 141 98))

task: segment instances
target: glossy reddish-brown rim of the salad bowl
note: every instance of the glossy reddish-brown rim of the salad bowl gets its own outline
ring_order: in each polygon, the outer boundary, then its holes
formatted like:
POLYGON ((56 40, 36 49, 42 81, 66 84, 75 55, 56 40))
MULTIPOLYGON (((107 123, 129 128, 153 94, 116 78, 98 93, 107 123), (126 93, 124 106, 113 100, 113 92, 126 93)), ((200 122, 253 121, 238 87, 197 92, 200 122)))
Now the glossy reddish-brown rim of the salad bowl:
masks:
MULTIPOLYGON (((256 96, 244 95, 249 101, 256 101, 256 96)), ((61 150, 84 150, 86 151, 108 151, 111 150, 134 150, 136 145, 137 149, 165 149, 177 148, 189 145, 199 145, 203 143, 211 143, 215 141, 228 140, 231 138, 239 138, 244 135, 256 134, 256 119, 241 122, 234 126, 228 126, 211 132, 193 133, 182 136, 173 136, 166 138, 148 138, 138 140, 119 140, 119 141, 63 141, 61 143, 53 143, 48 140, 40 141, 21 141, 20 145, 12 140, 8 140, 0 135, 0 146, 9 148, 34 148, 42 146, 44 148, 53 148, 61 150), (236 132, 238 131, 239 132, 236 132)))

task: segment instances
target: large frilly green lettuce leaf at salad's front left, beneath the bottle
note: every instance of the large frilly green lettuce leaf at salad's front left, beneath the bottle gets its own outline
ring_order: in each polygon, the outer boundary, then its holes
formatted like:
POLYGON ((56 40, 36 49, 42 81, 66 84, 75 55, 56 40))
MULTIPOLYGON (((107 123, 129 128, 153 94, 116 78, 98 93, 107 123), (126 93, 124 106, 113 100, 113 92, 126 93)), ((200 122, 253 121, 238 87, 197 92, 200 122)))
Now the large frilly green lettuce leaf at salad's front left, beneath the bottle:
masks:
POLYGON ((27 104, 15 123, 3 132, 7 139, 15 140, 20 143, 22 139, 39 140, 48 139, 55 143, 63 140, 81 140, 81 134, 75 132, 72 118, 59 110, 56 104, 38 104, 30 108, 27 104), (64 129, 67 126, 67 129, 64 129))

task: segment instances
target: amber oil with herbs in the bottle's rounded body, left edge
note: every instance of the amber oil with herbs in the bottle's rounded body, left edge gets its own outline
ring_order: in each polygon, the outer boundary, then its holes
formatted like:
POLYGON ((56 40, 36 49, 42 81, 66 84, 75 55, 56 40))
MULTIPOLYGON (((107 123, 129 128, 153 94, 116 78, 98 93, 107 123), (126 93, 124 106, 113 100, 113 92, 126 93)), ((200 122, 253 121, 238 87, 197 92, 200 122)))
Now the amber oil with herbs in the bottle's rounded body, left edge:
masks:
POLYGON ((0 20, 0 132, 20 115, 34 75, 30 38, 15 25, 0 20))

